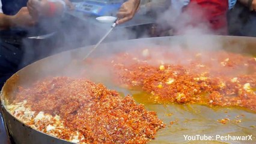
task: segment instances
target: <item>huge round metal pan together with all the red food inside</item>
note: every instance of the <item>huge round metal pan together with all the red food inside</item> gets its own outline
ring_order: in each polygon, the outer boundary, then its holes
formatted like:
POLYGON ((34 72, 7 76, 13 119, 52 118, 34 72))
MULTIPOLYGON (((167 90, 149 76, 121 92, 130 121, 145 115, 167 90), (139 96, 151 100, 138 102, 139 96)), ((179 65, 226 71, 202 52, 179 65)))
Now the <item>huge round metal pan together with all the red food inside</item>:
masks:
POLYGON ((87 62, 73 50, 18 71, 1 93, 14 142, 255 143, 254 38, 219 37, 232 52, 175 48, 172 38, 106 44, 87 62), (234 53, 233 43, 247 48, 234 53))

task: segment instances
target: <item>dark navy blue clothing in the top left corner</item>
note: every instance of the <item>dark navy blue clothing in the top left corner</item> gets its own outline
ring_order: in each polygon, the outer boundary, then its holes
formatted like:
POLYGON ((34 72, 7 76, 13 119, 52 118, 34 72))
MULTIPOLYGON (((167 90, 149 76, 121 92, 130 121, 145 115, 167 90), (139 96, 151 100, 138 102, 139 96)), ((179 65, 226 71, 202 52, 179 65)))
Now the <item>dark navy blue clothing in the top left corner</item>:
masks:
POLYGON ((28 0, 1 0, 2 12, 7 15, 16 14, 20 8, 26 7, 28 0))

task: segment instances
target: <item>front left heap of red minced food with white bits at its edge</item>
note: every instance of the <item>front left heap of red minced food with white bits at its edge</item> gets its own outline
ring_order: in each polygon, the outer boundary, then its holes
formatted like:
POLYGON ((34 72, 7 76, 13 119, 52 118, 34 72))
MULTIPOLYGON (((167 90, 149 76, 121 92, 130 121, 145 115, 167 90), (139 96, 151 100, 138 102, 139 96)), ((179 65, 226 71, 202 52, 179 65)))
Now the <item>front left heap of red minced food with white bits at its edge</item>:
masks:
POLYGON ((132 97, 69 77, 20 87, 7 109, 30 127, 75 143, 147 143, 165 126, 132 97))

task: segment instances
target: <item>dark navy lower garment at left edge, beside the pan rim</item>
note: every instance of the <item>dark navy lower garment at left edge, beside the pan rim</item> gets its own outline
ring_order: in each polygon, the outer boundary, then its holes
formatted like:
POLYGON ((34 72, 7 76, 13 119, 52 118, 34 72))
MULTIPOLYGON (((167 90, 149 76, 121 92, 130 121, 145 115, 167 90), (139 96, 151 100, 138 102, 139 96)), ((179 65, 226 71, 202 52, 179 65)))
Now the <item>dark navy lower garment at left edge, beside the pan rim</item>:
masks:
POLYGON ((20 31, 0 31, 0 89, 10 76, 35 61, 35 45, 20 31))

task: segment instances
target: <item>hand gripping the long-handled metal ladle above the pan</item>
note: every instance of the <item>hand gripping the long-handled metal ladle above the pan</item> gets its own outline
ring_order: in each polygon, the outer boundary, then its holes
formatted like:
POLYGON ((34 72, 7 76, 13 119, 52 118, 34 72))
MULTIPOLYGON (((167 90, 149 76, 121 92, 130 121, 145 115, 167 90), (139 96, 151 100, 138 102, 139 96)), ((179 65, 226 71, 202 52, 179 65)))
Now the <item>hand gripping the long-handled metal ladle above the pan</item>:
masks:
POLYGON ((118 24, 127 22, 132 19, 136 11, 138 11, 140 0, 129 0, 121 5, 119 12, 117 13, 118 24))

